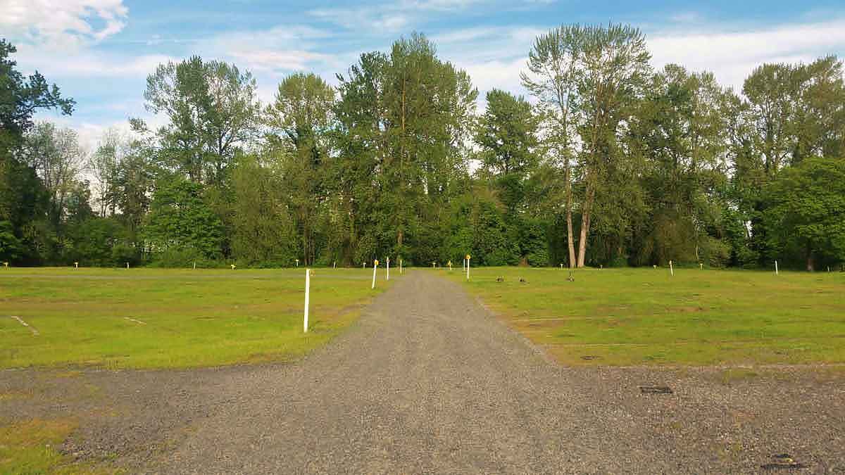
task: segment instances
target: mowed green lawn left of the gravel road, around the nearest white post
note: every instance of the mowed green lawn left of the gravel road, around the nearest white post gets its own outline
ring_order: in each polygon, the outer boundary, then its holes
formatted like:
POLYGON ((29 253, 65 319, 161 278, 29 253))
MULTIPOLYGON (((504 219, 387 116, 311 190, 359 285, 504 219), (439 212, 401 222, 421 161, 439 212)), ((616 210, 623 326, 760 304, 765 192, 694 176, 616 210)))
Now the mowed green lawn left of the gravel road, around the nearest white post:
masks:
POLYGON ((188 368, 297 358, 352 324, 390 284, 379 270, 373 291, 371 277, 371 269, 315 270, 303 334, 303 268, 0 268, 0 368, 188 368))

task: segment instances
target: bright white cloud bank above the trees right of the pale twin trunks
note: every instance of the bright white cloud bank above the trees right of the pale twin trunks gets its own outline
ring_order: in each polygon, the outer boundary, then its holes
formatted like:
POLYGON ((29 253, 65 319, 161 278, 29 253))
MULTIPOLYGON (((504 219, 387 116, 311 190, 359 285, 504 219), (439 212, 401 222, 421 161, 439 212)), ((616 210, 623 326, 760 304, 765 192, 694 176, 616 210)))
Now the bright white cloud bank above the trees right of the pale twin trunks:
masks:
MULTIPOLYGON (((708 28, 714 29, 712 25, 708 28)), ((652 63, 679 63, 716 75, 722 85, 741 90, 744 79, 762 63, 810 62, 845 53, 845 20, 776 25, 733 31, 668 31, 648 35, 652 63)))

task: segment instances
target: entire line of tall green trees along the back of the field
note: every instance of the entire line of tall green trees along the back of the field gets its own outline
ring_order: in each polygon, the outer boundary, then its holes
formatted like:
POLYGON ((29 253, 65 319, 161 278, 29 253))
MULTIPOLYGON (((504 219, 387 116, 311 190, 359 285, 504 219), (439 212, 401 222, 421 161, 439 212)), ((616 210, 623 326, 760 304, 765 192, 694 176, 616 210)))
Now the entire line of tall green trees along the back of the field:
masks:
POLYGON ((336 86, 190 57, 95 150, 0 41, 0 259, 14 265, 845 263, 842 61, 767 63, 741 91, 650 65, 629 25, 539 35, 529 97, 478 92, 424 35, 365 52, 336 86))

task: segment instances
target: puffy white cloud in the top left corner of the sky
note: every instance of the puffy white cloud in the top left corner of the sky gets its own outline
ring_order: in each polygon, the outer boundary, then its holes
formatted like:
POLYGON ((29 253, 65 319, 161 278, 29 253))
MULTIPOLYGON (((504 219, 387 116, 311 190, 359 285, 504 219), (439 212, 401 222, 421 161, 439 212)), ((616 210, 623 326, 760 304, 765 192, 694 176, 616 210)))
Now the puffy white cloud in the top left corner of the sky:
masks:
POLYGON ((126 25, 123 0, 4 0, 0 31, 14 41, 67 50, 126 25))

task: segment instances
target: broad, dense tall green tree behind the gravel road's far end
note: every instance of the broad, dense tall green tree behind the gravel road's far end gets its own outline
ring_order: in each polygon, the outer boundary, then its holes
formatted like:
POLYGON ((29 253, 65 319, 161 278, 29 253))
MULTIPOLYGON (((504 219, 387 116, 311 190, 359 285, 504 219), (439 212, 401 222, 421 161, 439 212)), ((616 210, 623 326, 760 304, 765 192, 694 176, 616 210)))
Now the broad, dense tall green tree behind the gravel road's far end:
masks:
POLYGON ((370 252, 431 262, 443 245, 431 230, 466 177, 477 90, 416 34, 396 41, 389 55, 362 55, 340 79, 341 166, 366 197, 352 240, 363 248, 360 238, 374 233, 370 252))

